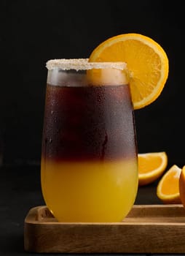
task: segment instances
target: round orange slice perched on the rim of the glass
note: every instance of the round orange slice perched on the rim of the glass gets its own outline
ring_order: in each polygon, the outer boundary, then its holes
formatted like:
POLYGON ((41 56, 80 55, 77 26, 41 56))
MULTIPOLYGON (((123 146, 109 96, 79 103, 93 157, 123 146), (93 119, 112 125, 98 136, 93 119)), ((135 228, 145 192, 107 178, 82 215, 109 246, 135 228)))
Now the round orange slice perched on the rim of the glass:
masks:
POLYGON ((154 102, 168 78, 165 50, 141 34, 120 34, 106 39, 92 51, 89 61, 123 61, 127 64, 134 109, 154 102))

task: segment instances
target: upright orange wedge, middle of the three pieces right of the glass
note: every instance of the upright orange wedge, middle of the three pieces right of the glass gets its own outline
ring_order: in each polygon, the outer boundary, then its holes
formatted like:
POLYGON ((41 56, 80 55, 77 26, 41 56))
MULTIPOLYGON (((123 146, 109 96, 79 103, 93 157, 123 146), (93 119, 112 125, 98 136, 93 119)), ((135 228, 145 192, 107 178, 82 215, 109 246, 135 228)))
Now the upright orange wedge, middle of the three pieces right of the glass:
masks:
POLYGON ((163 203, 181 203, 178 186, 180 175, 181 168, 173 165, 160 179, 157 185, 157 197, 163 203))

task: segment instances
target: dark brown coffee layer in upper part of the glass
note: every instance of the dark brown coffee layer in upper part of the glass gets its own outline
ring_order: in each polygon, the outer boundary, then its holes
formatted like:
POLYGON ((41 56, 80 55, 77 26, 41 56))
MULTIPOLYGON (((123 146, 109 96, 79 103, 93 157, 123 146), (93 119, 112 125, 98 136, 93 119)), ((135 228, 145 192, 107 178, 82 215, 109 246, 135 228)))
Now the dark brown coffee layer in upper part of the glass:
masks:
POLYGON ((42 157, 81 161, 135 157, 129 86, 47 85, 42 157))

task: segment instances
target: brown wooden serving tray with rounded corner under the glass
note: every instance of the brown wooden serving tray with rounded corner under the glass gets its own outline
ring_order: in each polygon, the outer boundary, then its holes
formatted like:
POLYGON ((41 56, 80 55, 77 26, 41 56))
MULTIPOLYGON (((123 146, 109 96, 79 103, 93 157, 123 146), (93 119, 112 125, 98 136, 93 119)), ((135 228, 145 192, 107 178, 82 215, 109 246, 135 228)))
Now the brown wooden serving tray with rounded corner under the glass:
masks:
POLYGON ((184 253, 182 205, 133 206, 122 222, 57 222, 46 206, 24 223, 25 251, 63 253, 184 253))

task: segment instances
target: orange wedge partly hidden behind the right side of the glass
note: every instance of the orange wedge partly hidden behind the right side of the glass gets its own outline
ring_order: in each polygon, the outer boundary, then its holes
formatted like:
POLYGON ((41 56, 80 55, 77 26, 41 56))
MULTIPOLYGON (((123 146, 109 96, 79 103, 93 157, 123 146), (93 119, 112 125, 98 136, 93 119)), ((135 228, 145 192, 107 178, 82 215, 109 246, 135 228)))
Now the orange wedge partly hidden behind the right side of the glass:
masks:
POLYGON ((168 157, 165 152, 138 154, 138 185, 155 181, 165 171, 168 157))

